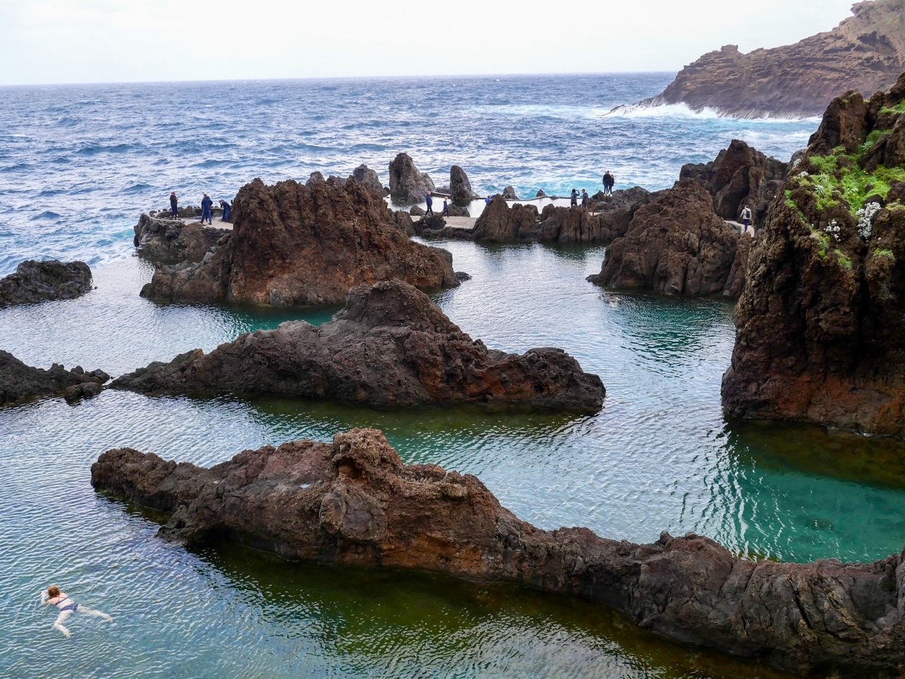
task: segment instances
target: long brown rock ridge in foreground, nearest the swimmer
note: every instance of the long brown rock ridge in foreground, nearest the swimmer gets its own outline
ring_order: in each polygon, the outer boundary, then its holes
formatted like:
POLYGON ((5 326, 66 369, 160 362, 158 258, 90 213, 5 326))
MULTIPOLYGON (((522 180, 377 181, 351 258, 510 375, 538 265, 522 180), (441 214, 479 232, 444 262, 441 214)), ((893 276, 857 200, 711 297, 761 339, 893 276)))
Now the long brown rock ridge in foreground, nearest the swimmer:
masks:
POLYGON ((905 664, 905 554, 872 564, 739 559, 709 538, 653 544, 520 521, 471 474, 405 465, 373 429, 246 450, 210 469, 122 448, 91 483, 208 534, 284 559, 419 569, 578 595, 654 633, 800 674, 897 676, 905 664))

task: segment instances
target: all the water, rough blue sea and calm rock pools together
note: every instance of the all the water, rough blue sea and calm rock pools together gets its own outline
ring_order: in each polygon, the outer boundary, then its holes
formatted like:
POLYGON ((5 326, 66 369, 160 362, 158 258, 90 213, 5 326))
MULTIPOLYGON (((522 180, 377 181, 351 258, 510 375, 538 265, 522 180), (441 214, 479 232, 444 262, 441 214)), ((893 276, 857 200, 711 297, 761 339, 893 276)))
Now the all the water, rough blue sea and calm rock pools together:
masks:
MULTIPOLYGON (((387 181, 405 151, 446 184, 595 193, 672 186, 682 164, 744 139, 788 159, 819 120, 733 120, 681 107, 608 115, 672 73, 234 81, 0 88, 0 276, 24 259, 81 259, 97 289, 0 310, 0 349, 111 375, 214 349, 336 308, 158 304, 133 256, 138 215, 254 177, 367 163, 387 181)), ((603 378, 594 416, 376 411, 280 398, 144 397, 0 409, 0 677, 269 679, 773 677, 676 646, 573 598, 419 573, 286 563, 230 544, 185 550, 160 517, 95 493, 90 464, 130 446, 196 464, 296 438, 383 429, 405 462, 477 474, 546 529, 653 541, 696 531, 754 559, 881 559, 905 538, 905 444, 818 427, 728 421, 719 382, 733 305, 614 293, 585 281, 605 248, 443 243, 462 287, 435 295, 488 347, 566 349, 603 378), (60 584, 114 617, 52 630, 60 584)))

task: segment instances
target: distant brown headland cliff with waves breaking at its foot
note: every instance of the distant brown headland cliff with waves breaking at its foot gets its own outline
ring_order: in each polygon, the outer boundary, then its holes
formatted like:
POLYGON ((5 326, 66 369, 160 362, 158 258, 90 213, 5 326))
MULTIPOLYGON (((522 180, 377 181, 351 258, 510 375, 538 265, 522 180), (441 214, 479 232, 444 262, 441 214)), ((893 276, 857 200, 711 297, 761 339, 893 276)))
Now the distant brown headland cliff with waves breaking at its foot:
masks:
POLYGON ((726 45, 704 54, 641 103, 750 118, 813 116, 845 91, 869 97, 888 89, 905 70, 905 0, 861 2, 852 11, 834 30, 799 43, 747 54, 726 45))

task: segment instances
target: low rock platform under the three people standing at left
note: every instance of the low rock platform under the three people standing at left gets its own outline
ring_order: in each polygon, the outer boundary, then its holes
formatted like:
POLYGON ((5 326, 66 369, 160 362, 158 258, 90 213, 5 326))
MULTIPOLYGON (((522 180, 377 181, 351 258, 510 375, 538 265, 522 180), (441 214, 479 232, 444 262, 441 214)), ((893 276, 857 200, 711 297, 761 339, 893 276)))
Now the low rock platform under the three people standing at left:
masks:
POLYGON ((200 262, 229 229, 186 224, 163 214, 141 215, 133 243, 139 256, 155 262, 200 262))

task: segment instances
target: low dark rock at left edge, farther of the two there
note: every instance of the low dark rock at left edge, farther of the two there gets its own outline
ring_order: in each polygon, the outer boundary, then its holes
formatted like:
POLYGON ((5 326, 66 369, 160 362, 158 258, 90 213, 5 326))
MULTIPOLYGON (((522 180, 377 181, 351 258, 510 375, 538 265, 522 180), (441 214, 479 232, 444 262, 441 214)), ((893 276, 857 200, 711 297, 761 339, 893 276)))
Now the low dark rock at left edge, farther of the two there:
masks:
POLYGON ((91 289, 91 270, 84 262, 26 260, 15 273, 0 279, 0 309, 13 304, 72 300, 91 289))

